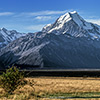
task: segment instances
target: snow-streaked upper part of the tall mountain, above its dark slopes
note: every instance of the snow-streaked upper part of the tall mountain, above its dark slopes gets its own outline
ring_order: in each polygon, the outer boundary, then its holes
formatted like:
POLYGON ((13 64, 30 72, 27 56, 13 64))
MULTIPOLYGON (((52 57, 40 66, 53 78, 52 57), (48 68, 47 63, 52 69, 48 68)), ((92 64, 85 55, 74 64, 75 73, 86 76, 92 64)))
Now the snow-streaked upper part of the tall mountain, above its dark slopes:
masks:
POLYGON ((100 38, 100 26, 85 21, 76 11, 62 15, 54 24, 46 25, 42 31, 56 35, 69 34, 75 37, 100 38))

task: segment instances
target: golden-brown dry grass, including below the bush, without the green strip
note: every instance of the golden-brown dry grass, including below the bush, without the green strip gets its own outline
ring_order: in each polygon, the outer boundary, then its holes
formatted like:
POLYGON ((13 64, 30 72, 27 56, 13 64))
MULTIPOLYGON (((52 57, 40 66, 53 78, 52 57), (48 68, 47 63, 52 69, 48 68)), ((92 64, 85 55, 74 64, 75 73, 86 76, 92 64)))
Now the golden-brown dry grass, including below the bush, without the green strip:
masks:
MULTIPOLYGON (((47 96, 48 94, 66 94, 66 93, 99 93, 100 92, 100 78, 87 78, 87 77, 35 77, 26 78, 28 81, 34 81, 34 89, 26 85, 21 89, 14 91, 13 95, 8 97, 1 96, 0 100, 51 100, 51 99, 36 99, 35 95, 47 96), (34 92, 35 91, 35 92, 34 92)), ((0 89, 0 94, 3 94, 3 90, 0 89)), ((96 96, 97 94, 95 94, 96 96)), ((97 95, 98 96, 98 95, 97 95)), ((55 99, 52 99, 55 100, 55 99)), ((63 99, 57 99, 63 100, 63 99)), ((65 100, 65 99, 64 99, 65 100)), ((67 99, 73 100, 73 99, 67 99)), ((77 100, 77 99, 74 99, 77 100)), ((86 99, 79 99, 86 100, 86 99)), ((87 99, 87 100, 100 100, 87 99)))

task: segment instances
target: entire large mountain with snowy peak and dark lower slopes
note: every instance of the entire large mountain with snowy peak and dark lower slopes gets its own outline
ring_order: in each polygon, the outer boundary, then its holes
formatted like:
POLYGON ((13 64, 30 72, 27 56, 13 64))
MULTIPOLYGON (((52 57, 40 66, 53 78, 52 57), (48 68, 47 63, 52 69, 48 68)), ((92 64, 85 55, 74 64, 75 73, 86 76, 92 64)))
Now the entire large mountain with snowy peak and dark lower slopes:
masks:
POLYGON ((41 32, 27 34, 0 50, 0 66, 38 65, 42 68, 99 68, 100 26, 68 12, 41 32))

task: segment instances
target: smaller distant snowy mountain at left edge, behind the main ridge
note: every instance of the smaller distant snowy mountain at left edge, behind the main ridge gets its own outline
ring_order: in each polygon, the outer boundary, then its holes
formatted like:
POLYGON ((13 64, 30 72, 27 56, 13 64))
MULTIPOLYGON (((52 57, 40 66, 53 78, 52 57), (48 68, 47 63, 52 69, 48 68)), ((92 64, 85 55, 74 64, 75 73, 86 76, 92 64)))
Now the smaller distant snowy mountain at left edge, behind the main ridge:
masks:
POLYGON ((19 33, 16 30, 8 31, 5 28, 0 29, 0 48, 6 46, 8 43, 24 36, 24 33, 19 33))

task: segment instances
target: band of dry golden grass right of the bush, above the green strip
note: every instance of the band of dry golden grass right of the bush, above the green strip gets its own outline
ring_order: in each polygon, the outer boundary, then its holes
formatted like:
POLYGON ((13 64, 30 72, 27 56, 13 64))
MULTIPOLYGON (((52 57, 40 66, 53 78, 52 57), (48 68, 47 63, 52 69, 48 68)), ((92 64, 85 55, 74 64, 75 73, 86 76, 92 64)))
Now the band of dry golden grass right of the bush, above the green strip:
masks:
POLYGON ((34 80, 36 84, 38 84, 38 86, 35 86, 36 92, 100 92, 100 78, 41 77, 31 79, 34 80))

